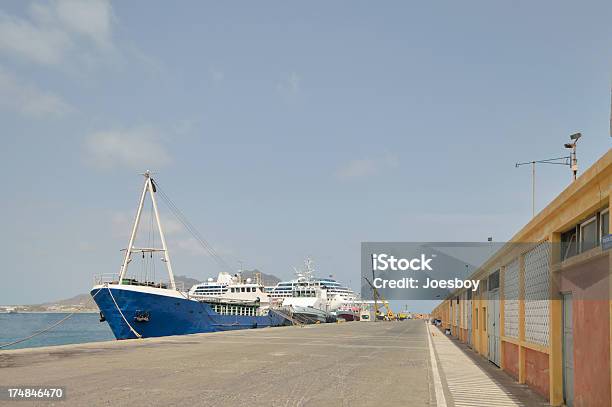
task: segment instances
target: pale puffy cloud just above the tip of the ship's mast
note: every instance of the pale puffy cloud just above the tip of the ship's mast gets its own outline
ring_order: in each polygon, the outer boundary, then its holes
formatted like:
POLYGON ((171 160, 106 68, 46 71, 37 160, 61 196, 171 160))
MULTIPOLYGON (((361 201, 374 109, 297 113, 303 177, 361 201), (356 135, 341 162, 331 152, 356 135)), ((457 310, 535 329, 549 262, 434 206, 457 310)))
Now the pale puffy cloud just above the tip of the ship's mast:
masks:
POLYGON ((85 154, 100 169, 154 170, 171 161, 159 131, 151 126, 94 132, 87 137, 85 154))

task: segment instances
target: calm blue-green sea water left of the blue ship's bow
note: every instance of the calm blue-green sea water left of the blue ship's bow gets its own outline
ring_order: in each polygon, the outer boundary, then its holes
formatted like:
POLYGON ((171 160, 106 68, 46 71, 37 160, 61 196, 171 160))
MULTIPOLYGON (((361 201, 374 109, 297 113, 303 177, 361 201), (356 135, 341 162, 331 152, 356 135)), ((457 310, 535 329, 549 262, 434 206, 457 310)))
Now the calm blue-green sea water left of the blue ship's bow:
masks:
MULTIPOLYGON (((46 329, 66 315, 68 314, 0 314, 0 345, 46 329)), ((99 315, 94 313, 74 314, 48 332, 3 349, 114 340, 108 324, 100 322, 99 318, 99 315)))

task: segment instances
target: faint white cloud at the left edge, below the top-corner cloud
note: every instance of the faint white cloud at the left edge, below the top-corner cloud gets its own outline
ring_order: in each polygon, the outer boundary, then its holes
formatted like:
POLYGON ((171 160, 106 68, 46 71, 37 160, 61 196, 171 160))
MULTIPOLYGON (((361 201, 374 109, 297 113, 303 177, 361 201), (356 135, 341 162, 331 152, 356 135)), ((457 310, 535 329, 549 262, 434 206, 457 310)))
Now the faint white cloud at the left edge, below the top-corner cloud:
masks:
POLYGON ((2 95, 1 108, 27 117, 63 116, 74 110, 59 96, 19 81, 2 67, 0 67, 0 95, 2 95))

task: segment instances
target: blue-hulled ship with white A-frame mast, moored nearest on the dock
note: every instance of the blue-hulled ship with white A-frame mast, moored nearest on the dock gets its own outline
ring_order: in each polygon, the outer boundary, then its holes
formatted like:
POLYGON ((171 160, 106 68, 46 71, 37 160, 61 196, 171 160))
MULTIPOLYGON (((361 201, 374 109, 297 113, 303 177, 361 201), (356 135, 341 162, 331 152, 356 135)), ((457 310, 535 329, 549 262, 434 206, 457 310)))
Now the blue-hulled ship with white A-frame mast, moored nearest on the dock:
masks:
MULTIPOLYGON (((185 335, 287 324, 285 315, 269 307, 262 308, 261 301, 242 299, 239 296, 215 298, 201 295, 203 292, 198 292, 197 288, 186 292, 177 287, 157 207, 159 185, 150 172, 143 175, 144 187, 119 275, 96 277, 90 292, 100 310, 100 321, 108 323, 115 338, 185 335), (147 195, 151 199, 151 225, 157 227, 161 247, 134 246, 147 195), (142 256, 143 261, 149 258, 152 261, 153 255, 158 253, 162 255, 161 261, 165 265, 168 282, 149 281, 146 275, 140 280, 127 276, 132 260, 142 256)), ((165 193, 159 192, 168 202, 171 211, 176 208, 165 193)))

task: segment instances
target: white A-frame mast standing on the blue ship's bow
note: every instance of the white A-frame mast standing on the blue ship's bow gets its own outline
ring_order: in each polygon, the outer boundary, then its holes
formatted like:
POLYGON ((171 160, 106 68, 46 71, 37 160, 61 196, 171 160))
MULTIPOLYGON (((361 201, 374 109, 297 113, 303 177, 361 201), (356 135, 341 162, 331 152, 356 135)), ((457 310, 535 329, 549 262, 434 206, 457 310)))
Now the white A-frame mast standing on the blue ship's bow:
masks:
POLYGON ((136 211, 136 218, 134 219, 134 225, 132 226, 132 234, 130 235, 130 241, 128 243, 127 249, 125 250, 125 257, 123 259, 123 265, 121 266, 121 272, 119 274, 119 284, 123 284, 123 280, 127 273, 128 265, 132 260, 132 253, 144 253, 144 252, 162 252, 164 257, 162 261, 166 263, 166 269, 168 270, 168 277, 170 279, 170 287, 173 290, 176 290, 176 283, 174 282, 174 273, 172 272, 172 263, 170 262, 170 253, 168 252, 168 246, 166 245, 166 238, 164 236, 164 231, 161 225, 161 220, 159 218, 159 211, 157 209, 157 200, 155 199, 155 182, 153 178, 151 178, 151 173, 146 171, 144 174, 145 182, 144 187, 142 189, 142 194, 140 195, 140 202, 138 204, 138 210, 136 211), (142 209, 144 207, 144 201, 147 195, 147 192, 151 196, 151 202, 153 203, 153 212, 155 213, 155 220, 157 221, 157 229, 159 231, 159 236, 161 240, 162 247, 154 248, 154 247, 146 247, 146 248, 138 248, 134 247, 134 240, 136 239, 136 233, 138 233, 138 225, 140 224, 140 215, 142 214, 142 209))

